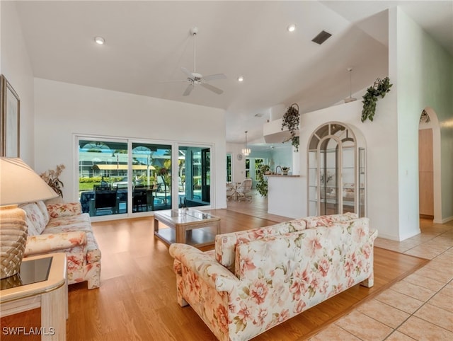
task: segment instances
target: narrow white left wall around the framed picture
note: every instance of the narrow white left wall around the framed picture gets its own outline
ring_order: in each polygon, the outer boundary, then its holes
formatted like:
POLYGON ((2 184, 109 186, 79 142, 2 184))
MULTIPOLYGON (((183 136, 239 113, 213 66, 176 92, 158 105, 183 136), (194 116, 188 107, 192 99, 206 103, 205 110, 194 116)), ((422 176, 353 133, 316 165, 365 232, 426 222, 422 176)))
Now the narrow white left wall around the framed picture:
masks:
POLYGON ((0 70, 21 100, 19 154, 25 163, 34 168, 33 71, 23 40, 16 2, 0 1, 0 3, 0 70))

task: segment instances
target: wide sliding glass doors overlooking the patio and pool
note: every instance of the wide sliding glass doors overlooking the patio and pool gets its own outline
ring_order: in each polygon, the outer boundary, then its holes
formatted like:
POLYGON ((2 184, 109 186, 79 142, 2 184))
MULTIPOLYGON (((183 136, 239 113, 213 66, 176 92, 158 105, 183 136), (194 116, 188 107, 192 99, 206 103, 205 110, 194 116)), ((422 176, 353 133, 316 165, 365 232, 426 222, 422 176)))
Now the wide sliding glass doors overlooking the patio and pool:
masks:
POLYGON ((146 215, 211 204, 209 146, 96 137, 79 137, 77 143, 79 200, 90 216, 146 215), (172 158, 178 162, 173 164, 172 158))

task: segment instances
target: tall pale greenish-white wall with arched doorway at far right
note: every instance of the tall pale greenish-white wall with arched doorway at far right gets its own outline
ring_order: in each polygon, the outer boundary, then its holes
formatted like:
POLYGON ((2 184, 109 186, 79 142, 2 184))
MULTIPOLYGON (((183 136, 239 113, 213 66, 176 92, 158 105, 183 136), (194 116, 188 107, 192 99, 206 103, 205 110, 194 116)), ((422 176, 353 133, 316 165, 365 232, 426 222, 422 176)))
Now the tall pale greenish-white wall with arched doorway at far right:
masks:
POLYGON ((418 121, 432 108, 441 127, 442 221, 453 219, 453 57, 401 8, 390 13, 389 65, 397 93, 400 239, 418 224, 418 121))

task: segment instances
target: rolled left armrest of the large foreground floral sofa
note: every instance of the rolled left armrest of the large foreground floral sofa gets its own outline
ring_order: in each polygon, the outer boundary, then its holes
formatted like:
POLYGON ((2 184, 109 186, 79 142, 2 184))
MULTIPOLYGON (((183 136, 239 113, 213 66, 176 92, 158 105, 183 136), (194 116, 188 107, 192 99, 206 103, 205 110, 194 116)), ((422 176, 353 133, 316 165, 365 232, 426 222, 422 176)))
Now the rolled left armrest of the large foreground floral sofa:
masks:
POLYGON ((173 243, 170 255, 217 291, 231 293, 239 286, 239 279, 212 255, 203 253, 191 245, 173 243))

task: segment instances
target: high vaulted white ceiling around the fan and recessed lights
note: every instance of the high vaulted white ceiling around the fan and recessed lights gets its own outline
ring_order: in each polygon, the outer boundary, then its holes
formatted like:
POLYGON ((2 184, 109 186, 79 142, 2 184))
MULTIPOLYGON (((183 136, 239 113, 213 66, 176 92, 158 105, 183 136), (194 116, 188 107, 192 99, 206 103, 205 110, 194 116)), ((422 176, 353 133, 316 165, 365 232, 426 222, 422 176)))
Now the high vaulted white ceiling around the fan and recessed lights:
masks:
POLYGON ((227 142, 243 142, 245 130, 260 141, 275 105, 338 103, 350 93, 348 67, 352 93, 387 76, 386 9, 396 5, 453 54, 453 1, 16 3, 35 77, 223 108, 227 142), (197 86, 182 96, 187 83, 162 83, 193 71, 193 26, 197 72, 226 74, 210 82, 222 95, 197 86), (332 36, 311 42, 321 30, 332 36))

